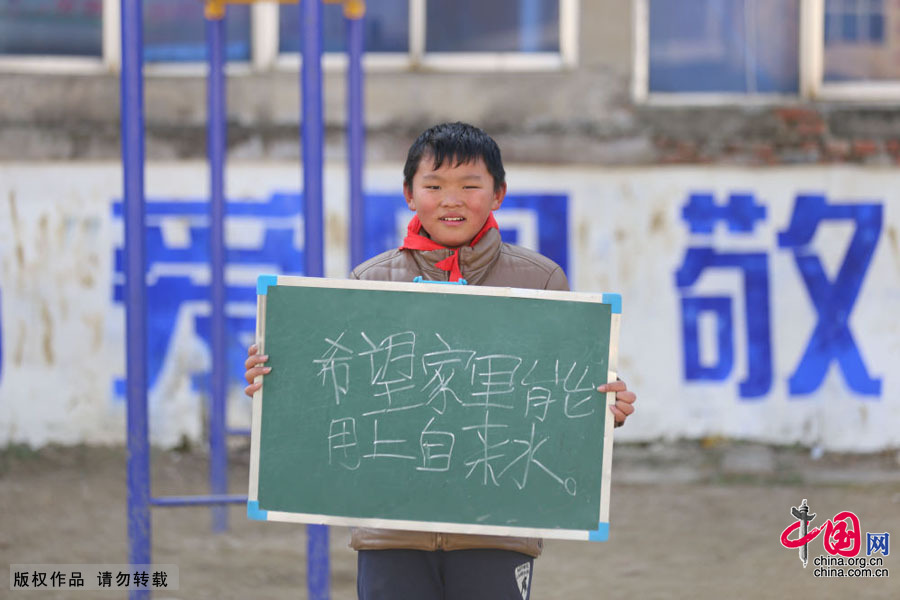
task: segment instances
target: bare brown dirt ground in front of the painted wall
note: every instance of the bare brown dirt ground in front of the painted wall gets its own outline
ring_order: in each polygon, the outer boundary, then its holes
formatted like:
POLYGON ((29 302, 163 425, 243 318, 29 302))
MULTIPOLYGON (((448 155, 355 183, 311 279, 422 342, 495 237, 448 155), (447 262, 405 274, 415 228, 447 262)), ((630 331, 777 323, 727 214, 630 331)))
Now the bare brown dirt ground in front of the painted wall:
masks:
MULTIPOLYGON (((246 493, 248 451, 232 448, 231 488, 246 493)), ((606 543, 548 541, 535 563, 534 600, 556 598, 900 598, 900 455, 825 455, 708 440, 617 445, 606 543), (887 578, 817 578, 822 536, 804 569, 783 548, 803 498, 821 525, 842 510, 863 532, 890 533, 887 578)), ((197 450, 156 452, 153 494, 207 489, 197 450)), ((11 447, 0 452, 0 563, 127 562, 122 448, 11 447)), ((208 508, 154 508, 153 561, 174 563, 177 591, 154 598, 306 598, 305 528, 248 521, 211 533, 208 508)), ((355 598, 355 553, 331 531, 331 597, 355 598)), ((847 567, 845 567, 846 569, 847 567)), ((10 591, 0 597, 116 598, 118 592, 10 591)))

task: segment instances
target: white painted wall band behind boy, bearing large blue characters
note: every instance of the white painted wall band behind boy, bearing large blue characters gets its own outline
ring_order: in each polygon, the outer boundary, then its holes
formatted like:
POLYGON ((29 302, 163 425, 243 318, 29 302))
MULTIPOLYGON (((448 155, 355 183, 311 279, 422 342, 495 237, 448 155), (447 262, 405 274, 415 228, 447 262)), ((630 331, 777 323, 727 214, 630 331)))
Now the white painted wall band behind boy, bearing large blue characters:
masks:
MULTIPOLYGON (((831 450, 900 446, 900 325, 893 316, 900 306, 900 171, 523 165, 508 171, 511 191, 569 196, 573 287, 623 295, 620 370, 639 402, 636 416, 617 431, 619 439, 724 435, 831 450), (688 194, 698 191, 714 193, 719 203, 731 192, 752 192, 768 216, 751 235, 736 236, 719 225, 713 236, 691 236, 681 210, 688 194), (815 393, 789 394, 787 379, 817 320, 793 253, 777 243, 802 192, 824 193, 831 203, 883 206, 878 245, 849 317, 866 368, 882 381, 879 396, 853 392, 834 362, 815 393), (724 381, 685 381, 675 272, 686 249, 700 245, 768 254, 774 379, 759 399, 741 399, 737 391, 747 370, 746 321, 741 280, 731 272, 705 274, 694 291, 734 298, 733 372, 724 381)), ((121 177, 115 163, 0 164, 0 445, 124 440, 124 403, 112 391, 113 378, 124 373, 124 311, 112 300, 113 250, 122 231, 111 205, 121 195, 121 177)), ((262 199, 275 190, 297 190, 299 182, 293 163, 239 163, 229 165, 226 190, 229 198, 262 199)), ((399 164, 368 169, 367 192, 397 192, 400 183, 399 164)), ((207 185, 202 163, 148 166, 148 197, 198 199, 207 185)), ((341 166, 326 169, 325 189, 326 274, 343 277, 349 264, 341 166)), ((226 225, 230 243, 253 235, 236 221, 226 225)), ((177 229, 176 223, 176 237, 177 229)), ((828 224, 813 240, 831 278, 851 234, 849 225, 828 224)), ((229 281, 253 276, 246 271, 230 270, 229 281)), ((201 276, 196 268, 188 272, 201 276)), ((151 390, 155 443, 201 438, 203 400, 190 376, 209 366, 208 349, 193 327, 203 310, 199 303, 182 306, 151 390)), ((701 338, 708 361, 715 359, 708 355, 712 342, 710 335, 701 338)), ((248 415, 249 401, 235 385, 229 422, 247 426, 248 415)))

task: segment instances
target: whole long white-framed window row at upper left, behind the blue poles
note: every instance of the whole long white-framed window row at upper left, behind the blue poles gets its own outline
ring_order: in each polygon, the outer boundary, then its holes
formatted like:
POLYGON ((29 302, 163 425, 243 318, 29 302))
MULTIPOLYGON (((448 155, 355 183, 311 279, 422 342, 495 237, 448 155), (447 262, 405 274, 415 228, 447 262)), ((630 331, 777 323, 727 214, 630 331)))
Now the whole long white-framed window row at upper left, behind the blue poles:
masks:
MULTIPOLYGON (((581 0, 369 0, 366 65, 459 70, 573 65, 581 0)), ((121 0, 0 0, 0 68, 70 72, 118 69, 121 0)), ((206 59, 203 0, 143 0, 150 72, 200 73, 206 59), (195 65, 191 67, 190 65, 195 65), (185 68, 187 70, 185 70, 185 68)), ((323 4, 325 66, 345 62, 340 3, 323 4)), ((258 70, 296 68, 299 6, 229 4, 227 60, 258 70)), ((238 70, 237 72, 244 72, 238 70)))

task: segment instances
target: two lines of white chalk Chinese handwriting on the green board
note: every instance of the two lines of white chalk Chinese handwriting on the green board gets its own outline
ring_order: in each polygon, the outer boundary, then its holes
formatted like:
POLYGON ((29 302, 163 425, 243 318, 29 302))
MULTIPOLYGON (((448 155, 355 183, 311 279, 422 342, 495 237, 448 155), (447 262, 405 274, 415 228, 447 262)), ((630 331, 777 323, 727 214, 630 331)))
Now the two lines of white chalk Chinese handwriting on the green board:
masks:
POLYGON ((336 415, 328 464, 355 471, 400 461, 435 473, 455 466, 476 485, 523 490, 539 477, 575 496, 571 465, 553 464, 565 460, 547 451, 551 435, 565 433, 547 428, 602 424, 589 417, 603 414, 596 388, 606 381, 605 363, 479 353, 438 332, 422 339, 412 331, 322 339, 312 363, 336 415))

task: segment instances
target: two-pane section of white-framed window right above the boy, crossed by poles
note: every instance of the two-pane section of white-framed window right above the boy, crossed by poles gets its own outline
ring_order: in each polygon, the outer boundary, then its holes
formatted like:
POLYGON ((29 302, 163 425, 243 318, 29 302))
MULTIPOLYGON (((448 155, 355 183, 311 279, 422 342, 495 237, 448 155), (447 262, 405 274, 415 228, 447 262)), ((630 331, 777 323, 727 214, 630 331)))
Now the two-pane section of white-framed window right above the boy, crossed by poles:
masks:
MULTIPOLYGON (((577 48, 579 1, 367 2, 367 64, 460 70, 572 65, 577 48)), ((298 10, 291 5, 279 10, 277 50, 283 65, 296 64, 301 43, 298 10)), ((323 29, 325 52, 342 51, 345 42, 340 6, 324 7, 323 29)))

